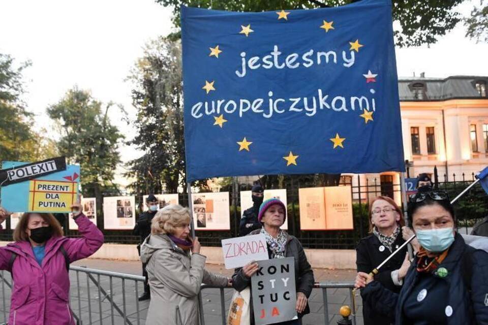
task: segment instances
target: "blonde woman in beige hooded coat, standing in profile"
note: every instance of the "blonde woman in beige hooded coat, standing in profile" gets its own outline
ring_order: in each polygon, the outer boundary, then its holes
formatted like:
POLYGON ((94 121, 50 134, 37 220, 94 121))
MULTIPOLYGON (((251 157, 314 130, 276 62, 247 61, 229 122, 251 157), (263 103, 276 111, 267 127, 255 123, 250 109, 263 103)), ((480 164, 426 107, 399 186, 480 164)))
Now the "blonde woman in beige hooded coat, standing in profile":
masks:
POLYGON ((187 208, 169 205, 153 218, 151 235, 141 246, 151 290, 146 324, 197 325, 200 285, 229 284, 229 278, 204 269, 206 257, 200 254, 198 238, 189 235, 187 208))

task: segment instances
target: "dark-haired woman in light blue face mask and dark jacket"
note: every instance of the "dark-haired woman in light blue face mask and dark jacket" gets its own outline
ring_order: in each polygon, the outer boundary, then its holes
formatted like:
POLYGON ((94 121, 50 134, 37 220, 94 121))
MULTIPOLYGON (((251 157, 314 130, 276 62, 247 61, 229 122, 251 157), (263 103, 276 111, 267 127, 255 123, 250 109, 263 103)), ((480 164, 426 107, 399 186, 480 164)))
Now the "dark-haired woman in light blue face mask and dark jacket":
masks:
POLYGON ((488 324, 488 253, 456 233, 447 193, 415 194, 408 216, 420 248, 400 294, 369 277, 363 299, 396 325, 488 324))

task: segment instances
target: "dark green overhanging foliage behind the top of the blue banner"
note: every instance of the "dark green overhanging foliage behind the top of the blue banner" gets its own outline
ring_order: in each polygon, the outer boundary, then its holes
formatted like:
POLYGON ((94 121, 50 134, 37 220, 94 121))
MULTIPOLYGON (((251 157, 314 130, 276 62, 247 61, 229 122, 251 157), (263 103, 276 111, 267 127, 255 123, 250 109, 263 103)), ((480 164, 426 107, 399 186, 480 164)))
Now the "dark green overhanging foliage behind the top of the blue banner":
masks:
MULTIPOLYGON (((358 0, 155 0, 173 8, 173 23, 179 27, 180 6, 228 11, 261 12, 282 9, 313 9, 347 5, 358 0)), ((462 19, 455 7, 465 0, 392 0, 396 45, 433 44, 462 19), (395 24, 396 26, 396 24, 395 24)), ((173 37, 179 37, 178 34, 173 37)))

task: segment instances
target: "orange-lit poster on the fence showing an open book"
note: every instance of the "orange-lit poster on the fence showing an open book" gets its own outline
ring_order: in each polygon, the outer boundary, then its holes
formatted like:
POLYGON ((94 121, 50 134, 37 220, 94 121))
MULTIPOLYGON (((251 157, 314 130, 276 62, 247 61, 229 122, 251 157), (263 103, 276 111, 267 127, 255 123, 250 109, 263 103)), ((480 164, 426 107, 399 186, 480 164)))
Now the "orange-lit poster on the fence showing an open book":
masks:
POLYGON ((351 186, 298 190, 300 230, 352 230, 351 186))

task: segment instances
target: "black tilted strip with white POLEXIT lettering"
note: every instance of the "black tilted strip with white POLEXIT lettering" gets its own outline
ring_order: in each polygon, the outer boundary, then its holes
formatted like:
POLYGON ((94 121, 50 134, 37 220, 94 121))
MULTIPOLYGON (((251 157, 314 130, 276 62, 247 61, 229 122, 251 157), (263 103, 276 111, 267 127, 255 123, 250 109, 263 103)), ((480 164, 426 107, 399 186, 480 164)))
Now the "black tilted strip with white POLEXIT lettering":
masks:
POLYGON ((65 157, 50 158, 0 170, 0 183, 7 186, 65 170, 65 157))

